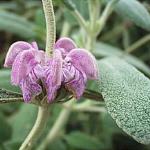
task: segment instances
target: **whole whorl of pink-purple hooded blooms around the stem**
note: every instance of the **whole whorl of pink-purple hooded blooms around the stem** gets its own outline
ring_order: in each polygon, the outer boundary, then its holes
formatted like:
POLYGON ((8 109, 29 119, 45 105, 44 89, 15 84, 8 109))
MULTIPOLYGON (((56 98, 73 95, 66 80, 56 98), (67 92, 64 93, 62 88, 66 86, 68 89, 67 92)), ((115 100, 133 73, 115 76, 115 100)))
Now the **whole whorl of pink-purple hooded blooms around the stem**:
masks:
POLYGON ((61 38, 55 43, 51 58, 39 50, 35 42, 16 42, 9 48, 4 66, 12 68, 11 82, 21 88, 25 102, 39 95, 43 87, 48 102, 52 102, 62 85, 79 99, 87 79, 98 76, 94 56, 77 48, 69 38, 61 38))

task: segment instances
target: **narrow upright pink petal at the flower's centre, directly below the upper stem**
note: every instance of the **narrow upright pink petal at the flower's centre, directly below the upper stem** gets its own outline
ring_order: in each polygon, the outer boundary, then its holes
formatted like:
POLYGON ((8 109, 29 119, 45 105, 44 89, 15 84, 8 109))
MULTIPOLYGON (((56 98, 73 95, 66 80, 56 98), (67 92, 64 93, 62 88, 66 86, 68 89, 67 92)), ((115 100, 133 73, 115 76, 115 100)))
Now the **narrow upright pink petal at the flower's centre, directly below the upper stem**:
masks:
POLYGON ((54 52, 53 58, 49 59, 45 68, 44 84, 47 90, 48 101, 52 102, 56 96, 57 90, 61 86, 62 78, 62 57, 59 50, 54 52))

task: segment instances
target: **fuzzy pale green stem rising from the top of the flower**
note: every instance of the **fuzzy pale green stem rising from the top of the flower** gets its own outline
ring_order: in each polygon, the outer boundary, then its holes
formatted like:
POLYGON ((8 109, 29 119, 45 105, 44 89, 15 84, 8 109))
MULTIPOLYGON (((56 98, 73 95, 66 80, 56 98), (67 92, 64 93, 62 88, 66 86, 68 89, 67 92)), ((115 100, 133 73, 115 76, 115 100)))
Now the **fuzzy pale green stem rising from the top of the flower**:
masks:
POLYGON ((52 0, 42 0, 46 19, 46 53, 50 56, 56 40, 56 24, 52 0))

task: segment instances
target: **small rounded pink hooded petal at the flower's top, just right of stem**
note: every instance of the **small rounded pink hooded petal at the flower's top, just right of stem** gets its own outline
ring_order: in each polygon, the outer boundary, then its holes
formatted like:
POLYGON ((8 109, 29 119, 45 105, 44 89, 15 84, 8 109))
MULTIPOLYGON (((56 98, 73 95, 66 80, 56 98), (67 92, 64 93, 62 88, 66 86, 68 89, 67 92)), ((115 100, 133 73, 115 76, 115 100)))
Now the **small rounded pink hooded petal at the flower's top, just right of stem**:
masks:
POLYGON ((55 49, 64 49, 66 53, 70 52, 74 48, 76 48, 76 44, 73 42, 73 40, 67 37, 60 38, 55 43, 55 49))

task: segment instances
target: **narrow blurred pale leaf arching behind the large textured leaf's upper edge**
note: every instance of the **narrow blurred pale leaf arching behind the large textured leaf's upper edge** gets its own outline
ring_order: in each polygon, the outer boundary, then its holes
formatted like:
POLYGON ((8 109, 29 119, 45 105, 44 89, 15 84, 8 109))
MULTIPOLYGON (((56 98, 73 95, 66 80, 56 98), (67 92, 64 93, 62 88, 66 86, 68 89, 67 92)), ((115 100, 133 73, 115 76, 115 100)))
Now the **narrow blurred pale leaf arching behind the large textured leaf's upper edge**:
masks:
POLYGON ((97 58, 118 56, 150 77, 150 68, 146 64, 144 64, 140 59, 136 58, 135 56, 124 53, 123 50, 117 47, 99 42, 96 44, 96 48, 93 53, 97 58))

